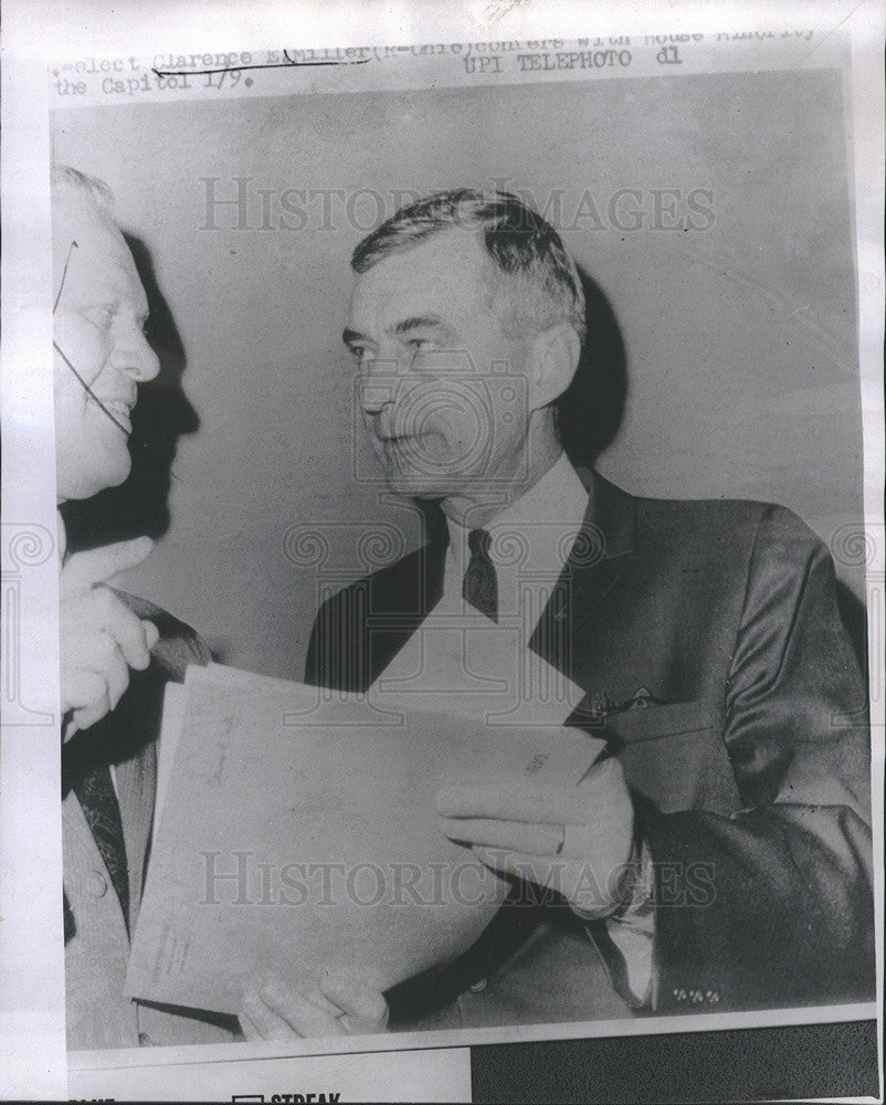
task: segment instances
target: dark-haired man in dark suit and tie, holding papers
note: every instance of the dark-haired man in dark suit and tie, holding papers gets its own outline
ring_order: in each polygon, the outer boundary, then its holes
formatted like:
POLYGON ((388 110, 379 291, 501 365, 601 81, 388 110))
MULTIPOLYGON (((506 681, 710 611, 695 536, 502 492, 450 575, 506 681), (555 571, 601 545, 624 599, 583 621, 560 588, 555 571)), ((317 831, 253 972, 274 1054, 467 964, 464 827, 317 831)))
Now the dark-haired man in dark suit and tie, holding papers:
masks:
POLYGON ((323 604, 306 681, 402 681, 441 618, 523 624, 584 694, 562 720, 607 739, 578 787, 441 791, 441 830, 510 899, 460 960, 389 991, 394 1022, 872 998, 866 695, 821 541, 781 507, 635 498, 572 466, 582 286, 515 197, 430 196, 352 266, 369 439, 444 525, 323 604))

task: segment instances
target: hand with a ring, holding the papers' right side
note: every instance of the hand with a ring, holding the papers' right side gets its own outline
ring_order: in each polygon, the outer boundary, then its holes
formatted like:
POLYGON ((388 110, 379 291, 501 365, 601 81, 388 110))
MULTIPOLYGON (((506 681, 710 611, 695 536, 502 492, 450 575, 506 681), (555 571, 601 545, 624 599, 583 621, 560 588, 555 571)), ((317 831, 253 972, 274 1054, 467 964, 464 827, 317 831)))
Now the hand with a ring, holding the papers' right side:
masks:
POLYGON ((584 919, 623 904, 634 811, 621 764, 603 760, 578 786, 445 787, 436 794, 444 835, 487 867, 558 891, 584 919))

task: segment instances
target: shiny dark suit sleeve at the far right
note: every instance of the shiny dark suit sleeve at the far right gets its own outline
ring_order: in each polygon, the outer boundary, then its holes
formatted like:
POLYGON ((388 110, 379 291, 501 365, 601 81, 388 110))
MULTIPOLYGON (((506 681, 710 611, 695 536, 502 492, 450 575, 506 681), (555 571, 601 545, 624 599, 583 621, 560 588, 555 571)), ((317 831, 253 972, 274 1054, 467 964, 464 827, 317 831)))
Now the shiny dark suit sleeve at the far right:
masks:
POLYGON ((724 739, 742 809, 637 818, 661 1012, 874 997, 865 693, 831 558, 770 508, 750 557, 724 739))

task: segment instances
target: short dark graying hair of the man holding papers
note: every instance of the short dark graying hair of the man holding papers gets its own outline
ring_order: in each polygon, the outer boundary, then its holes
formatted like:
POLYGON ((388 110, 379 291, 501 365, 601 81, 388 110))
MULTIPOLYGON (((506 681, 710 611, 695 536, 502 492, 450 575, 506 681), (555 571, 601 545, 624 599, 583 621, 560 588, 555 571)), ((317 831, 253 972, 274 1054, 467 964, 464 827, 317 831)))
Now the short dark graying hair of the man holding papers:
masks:
POLYGON ((568 323, 584 338, 584 293, 576 263, 557 231, 510 192, 458 188, 400 208, 360 242, 351 266, 365 273, 383 257, 451 230, 479 235, 491 262, 488 307, 499 307, 508 337, 568 323))

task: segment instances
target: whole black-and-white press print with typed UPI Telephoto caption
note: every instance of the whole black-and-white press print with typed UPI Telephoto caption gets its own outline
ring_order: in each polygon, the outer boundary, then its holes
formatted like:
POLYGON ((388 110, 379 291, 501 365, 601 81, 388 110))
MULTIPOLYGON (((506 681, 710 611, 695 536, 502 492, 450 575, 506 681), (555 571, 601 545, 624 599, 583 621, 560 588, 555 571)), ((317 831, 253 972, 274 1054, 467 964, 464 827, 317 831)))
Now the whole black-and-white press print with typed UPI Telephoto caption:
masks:
MULTIPOLYGON (((494 8, 50 60, 51 436, 17 464, 57 509, 3 548, 4 606, 56 573, 59 702, 18 678, 4 737, 61 736, 83 1096, 468 1048, 475 1101, 880 1092, 853 40, 494 8), (766 1025, 858 1065, 532 1081, 555 1041, 713 1062, 766 1025)), ((314 1070, 262 1099, 367 1094, 314 1070)), ((435 1077, 387 1099, 472 1092, 435 1077)))

